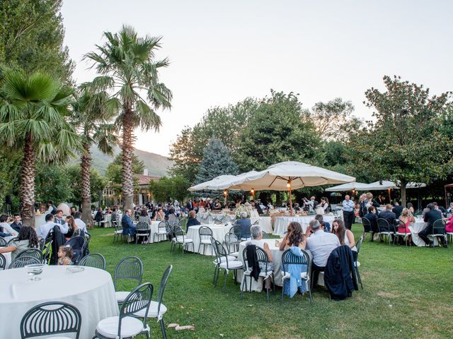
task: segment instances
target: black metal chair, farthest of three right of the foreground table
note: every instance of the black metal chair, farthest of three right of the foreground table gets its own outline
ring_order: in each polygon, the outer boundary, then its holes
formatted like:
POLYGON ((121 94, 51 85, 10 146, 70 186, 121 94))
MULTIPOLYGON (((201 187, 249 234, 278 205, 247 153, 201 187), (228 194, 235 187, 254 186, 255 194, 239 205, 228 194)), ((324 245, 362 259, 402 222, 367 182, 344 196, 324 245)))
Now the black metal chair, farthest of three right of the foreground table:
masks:
POLYGON ((143 263, 137 256, 128 256, 117 264, 113 275, 113 285, 115 286, 115 297, 118 304, 122 304, 130 293, 128 291, 118 291, 118 280, 135 280, 137 285, 140 285, 142 277, 143 263))

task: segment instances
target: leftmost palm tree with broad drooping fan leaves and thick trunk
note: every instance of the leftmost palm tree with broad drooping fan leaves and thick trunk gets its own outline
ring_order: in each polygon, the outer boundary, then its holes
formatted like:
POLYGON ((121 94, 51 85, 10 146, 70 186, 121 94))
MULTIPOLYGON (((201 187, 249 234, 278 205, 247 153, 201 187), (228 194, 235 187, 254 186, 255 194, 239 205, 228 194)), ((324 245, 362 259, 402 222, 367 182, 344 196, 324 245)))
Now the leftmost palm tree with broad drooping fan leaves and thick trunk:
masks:
MULTIPOLYGON (((34 225, 35 161, 64 161, 79 148, 68 124, 71 90, 47 73, 5 69, 0 91, 0 143, 22 152, 21 214, 34 225)), ((52 183, 50 183, 52 184, 52 183)))

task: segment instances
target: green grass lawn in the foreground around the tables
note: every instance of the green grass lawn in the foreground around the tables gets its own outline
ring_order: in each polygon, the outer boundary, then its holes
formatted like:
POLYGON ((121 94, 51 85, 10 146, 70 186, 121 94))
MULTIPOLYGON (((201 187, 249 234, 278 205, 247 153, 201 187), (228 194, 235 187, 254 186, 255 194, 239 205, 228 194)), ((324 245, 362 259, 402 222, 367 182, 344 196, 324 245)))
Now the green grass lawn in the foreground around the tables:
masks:
MULTIPOLYGON (((358 239, 362 225, 354 225, 358 239)), ((173 272, 164 295, 166 324, 194 325, 195 331, 167 330, 168 338, 453 338, 453 246, 449 249, 389 246, 367 238, 360 249, 364 290, 342 302, 324 288, 295 295, 280 304, 280 288, 266 302, 265 292, 245 293, 232 274, 222 293, 220 275, 212 287, 210 256, 170 252, 170 243, 113 244, 113 229, 91 230, 91 252, 100 252, 112 273, 121 258, 138 256, 143 282, 156 295, 165 268, 173 272)), ((155 299, 155 296, 153 296, 155 299)), ((159 323, 149 322, 151 338, 161 338, 159 323)), ((144 338, 144 337, 143 337, 144 338)))

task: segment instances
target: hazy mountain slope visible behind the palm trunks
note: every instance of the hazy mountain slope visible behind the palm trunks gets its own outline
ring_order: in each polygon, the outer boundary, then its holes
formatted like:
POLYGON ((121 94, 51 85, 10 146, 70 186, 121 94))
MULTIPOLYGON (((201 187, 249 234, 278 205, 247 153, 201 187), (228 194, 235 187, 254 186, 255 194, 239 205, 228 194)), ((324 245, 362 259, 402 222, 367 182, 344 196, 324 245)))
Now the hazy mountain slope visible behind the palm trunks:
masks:
MULTIPOLYGON (((105 174, 108 164, 113 161, 113 158, 121 152, 119 147, 113 150, 113 157, 103 154, 96 146, 91 147, 91 157, 93 158, 93 168, 96 168, 101 175, 105 174)), ((149 153, 144 150, 135 150, 135 155, 144 162, 144 168, 148 169, 149 175, 163 177, 168 174, 168 168, 173 165, 173 162, 168 160, 168 157, 156 153, 149 153)), ((71 161, 71 164, 78 163, 78 159, 71 161)))

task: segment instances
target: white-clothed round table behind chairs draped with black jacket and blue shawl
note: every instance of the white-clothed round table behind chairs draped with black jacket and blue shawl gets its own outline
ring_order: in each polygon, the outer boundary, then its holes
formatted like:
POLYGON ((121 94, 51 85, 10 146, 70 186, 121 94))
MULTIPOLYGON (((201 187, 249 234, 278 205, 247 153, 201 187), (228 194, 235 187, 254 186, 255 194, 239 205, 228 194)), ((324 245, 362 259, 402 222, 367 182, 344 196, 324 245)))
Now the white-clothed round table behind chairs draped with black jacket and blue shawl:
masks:
MULTIPOLYGON (((268 243, 269 249, 270 249, 270 254, 272 254, 272 261, 274 263, 274 279, 275 279, 275 285, 277 286, 282 286, 282 254, 285 251, 280 251, 279 246, 275 246, 275 241, 278 240, 279 242, 282 241, 282 239, 261 239, 260 242, 264 244, 265 242, 268 243)), ((238 260, 243 263, 243 250, 246 248, 248 241, 241 242, 239 244, 239 256, 238 260)), ((264 245, 260 246, 263 248, 264 245)), ((311 252, 306 249, 306 253, 311 256, 311 252)), ((237 270, 237 275, 236 275, 236 281, 238 283, 242 283, 242 278, 243 278, 243 270, 237 270)), ((248 278, 250 279, 250 278, 248 278)), ((250 284, 250 280, 247 279, 247 288, 248 284, 250 284)), ((258 278, 258 281, 255 279, 252 279, 252 291, 256 292, 261 292, 263 290, 263 278, 258 278)))

